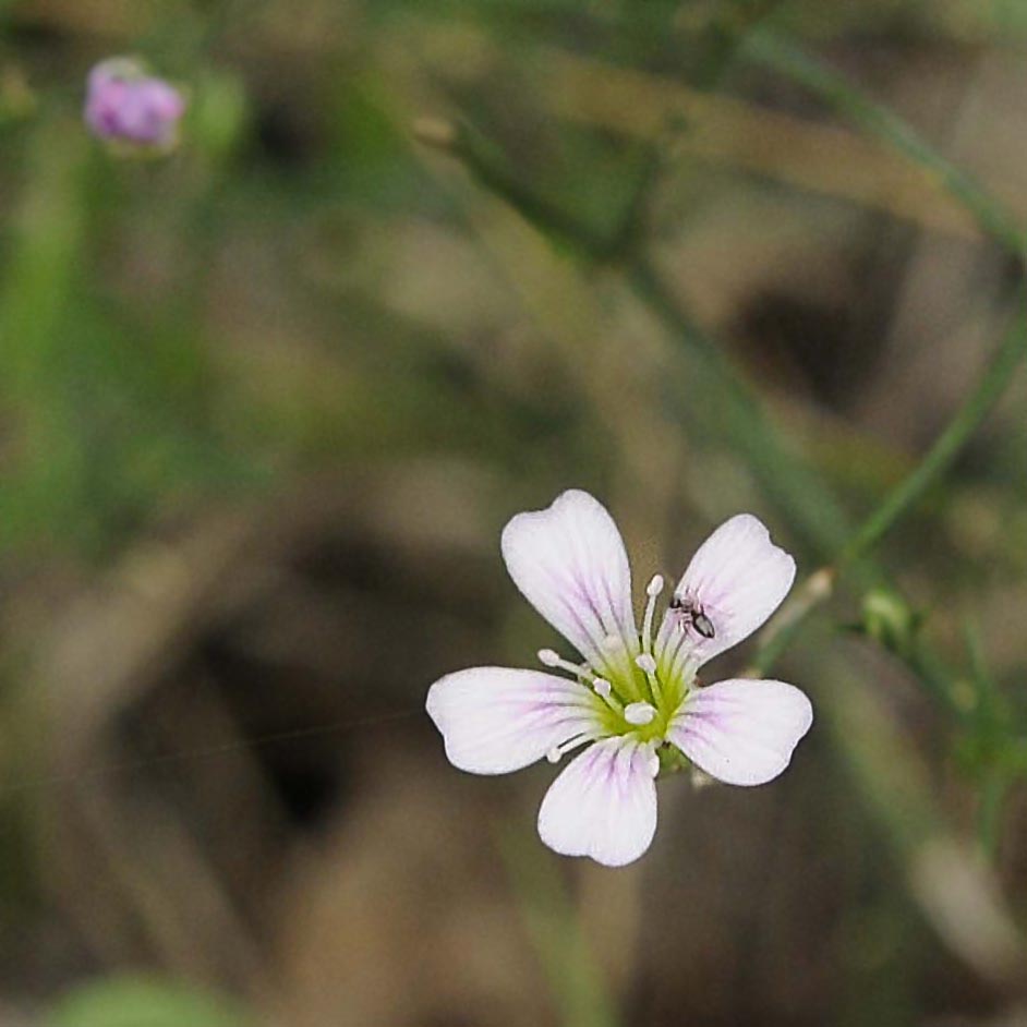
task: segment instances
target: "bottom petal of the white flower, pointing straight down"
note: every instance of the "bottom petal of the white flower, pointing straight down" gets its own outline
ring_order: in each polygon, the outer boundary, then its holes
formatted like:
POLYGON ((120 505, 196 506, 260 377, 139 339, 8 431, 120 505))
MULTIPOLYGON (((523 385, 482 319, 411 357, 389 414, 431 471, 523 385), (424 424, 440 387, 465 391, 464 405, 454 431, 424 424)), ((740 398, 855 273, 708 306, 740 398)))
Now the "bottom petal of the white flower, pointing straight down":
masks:
POLYGON ((604 738, 553 782, 539 810, 539 835, 564 856, 607 867, 638 859, 656 831, 657 761, 631 737, 604 738))

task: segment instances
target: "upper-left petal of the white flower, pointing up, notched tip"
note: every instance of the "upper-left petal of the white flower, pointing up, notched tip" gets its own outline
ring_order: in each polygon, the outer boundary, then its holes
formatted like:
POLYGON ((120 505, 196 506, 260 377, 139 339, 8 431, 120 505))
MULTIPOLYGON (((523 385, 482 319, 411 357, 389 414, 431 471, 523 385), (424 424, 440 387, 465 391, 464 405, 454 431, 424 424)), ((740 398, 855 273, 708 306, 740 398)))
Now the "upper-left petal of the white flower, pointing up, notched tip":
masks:
MULTIPOLYGON (((597 670, 611 667, 611 636, 638 653, 628 555, 597 499, 571 488, 545 510, 518 514, 503 531, 503 557, 528 602, 597 670)), ((625 662, 621 650, 617 666, 625 662)))

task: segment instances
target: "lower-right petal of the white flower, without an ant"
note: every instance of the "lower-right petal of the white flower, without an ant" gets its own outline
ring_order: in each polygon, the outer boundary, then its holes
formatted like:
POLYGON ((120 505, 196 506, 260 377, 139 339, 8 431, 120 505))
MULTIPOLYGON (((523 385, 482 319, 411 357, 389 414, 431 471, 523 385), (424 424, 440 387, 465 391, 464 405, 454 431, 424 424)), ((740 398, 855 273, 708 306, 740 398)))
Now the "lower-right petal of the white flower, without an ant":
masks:
POLYGON ((795 686, 735 679, 690 692, 667 738, 718 781, 762 785, 785 770, 812 723, 813 708, 795 686))

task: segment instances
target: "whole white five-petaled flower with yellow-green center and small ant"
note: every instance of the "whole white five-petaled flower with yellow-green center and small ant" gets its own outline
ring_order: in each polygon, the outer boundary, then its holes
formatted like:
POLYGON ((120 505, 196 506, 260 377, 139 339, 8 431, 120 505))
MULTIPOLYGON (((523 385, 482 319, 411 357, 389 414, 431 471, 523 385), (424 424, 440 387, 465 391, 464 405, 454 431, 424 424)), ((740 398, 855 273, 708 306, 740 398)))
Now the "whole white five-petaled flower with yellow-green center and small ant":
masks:
POLYGON ((542 801, 539 834, 566 856, 619 867, 656 830, 661 763, 690 761, 733 785, 776 777, 809 730, 812 708, 783 681, 733 679, 698 687, 696 672, 751 635, 777 608, 795 561, 757 518, 739 514, 699 548, 653 637, 657 575, 639 633, 631 572, 613 518, 571 490, 546 510, 519 514, 503 556, 528 601, 584 657, 552 650, 542 670, 472 667, 427 696, 446 756, 473 774, 505 774, 587 745, 542 801))

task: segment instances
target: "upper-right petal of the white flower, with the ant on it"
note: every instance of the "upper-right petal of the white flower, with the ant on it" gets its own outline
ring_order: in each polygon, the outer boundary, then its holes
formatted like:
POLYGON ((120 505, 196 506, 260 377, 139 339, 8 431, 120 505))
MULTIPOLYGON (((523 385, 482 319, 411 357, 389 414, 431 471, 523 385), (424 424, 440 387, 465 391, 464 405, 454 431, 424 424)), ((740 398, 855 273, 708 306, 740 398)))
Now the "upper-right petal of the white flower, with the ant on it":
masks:
POLYGON ((700 608, 713 628, 704 638, 687 618, 668 609, 656 641, 664 663, 687 647, 694 666, 748 638, 781 605, 795 581, 795 560, 774 545, 751 514, 725 521, 699 547, 675 594, 700 608))

